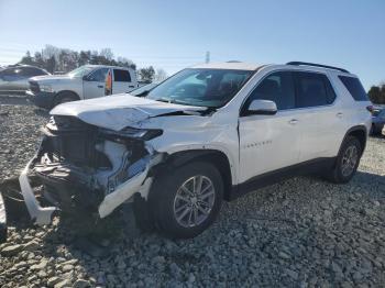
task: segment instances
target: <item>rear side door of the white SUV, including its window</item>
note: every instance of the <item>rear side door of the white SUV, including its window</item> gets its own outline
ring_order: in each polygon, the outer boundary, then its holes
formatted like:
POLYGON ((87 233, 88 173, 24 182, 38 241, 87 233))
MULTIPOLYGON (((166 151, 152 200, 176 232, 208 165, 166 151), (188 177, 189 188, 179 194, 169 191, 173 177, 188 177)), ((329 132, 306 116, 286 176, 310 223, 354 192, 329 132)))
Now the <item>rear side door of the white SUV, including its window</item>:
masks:
POLYGON ((344 134, 343 113, 327 74, 295 71, 296 111, 300 125, 299 162, 336 156, 344 134))

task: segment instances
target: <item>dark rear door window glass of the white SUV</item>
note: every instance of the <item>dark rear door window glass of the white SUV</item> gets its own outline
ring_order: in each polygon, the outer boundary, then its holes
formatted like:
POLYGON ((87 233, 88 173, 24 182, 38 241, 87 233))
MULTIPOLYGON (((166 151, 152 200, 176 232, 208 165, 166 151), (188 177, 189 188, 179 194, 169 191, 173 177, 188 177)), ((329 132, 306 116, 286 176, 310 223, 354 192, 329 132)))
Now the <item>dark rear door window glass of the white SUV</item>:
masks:
POLYGON ((297 82, 297 108, 331 104, 336 92, 326 75, 295 73, 297 82))

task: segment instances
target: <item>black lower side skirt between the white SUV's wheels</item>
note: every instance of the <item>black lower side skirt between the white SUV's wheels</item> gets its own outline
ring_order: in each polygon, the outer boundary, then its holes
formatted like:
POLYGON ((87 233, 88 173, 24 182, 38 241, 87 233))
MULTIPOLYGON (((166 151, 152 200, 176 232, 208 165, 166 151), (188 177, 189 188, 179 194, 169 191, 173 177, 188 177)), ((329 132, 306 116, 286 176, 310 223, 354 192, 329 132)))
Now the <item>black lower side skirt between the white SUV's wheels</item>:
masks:
POLYGON ((287 178, 328 170, 332 168, 334 163, 336 157, 317 158, 255 176, 245 182, 234 185, 231 189, 229 199, 227 200, 232 201, 245 193, 255 191, 256 189, 273 184, 277 184, 287 178))

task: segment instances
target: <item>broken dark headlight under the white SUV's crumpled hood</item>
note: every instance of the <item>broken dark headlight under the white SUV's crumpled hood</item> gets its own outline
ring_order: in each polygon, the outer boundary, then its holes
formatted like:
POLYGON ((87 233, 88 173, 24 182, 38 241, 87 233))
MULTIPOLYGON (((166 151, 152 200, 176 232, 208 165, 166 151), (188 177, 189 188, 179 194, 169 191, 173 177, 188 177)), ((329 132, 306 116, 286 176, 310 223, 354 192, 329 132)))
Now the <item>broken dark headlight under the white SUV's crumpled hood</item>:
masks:
POLYGON ((124 128, 121 131, 113 131, 108 129, 99 130, 102 135, 112 136, 116 140, 124 140, 124 139, 140 139, 144 141, 148 141, 161 136, 163 131, 158 129, 136 129, 136 128, 124 128))

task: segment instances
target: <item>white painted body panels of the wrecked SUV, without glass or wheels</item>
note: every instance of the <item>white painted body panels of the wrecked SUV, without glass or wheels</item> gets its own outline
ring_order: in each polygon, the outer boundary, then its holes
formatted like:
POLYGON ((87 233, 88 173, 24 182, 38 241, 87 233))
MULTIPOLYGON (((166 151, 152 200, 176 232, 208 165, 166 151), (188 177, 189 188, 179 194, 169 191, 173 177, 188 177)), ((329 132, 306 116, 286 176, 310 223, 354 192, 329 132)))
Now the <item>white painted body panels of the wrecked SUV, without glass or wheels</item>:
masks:
MULTIPOLYGON (((356 102, 338 79, 350 74, 324 68, 289 65, 245 65, 242 63, 209 64, 197 68, 257 69, 252 78, 224 107, 208 115, 195 114, 205 108, 157 102, 131 96, 105 97, 57 106, 53 115, 73 115, 86 123, 120 131, 123 128, 161 129, 163 134, 146 142, 157 153, 169 155, 190 149, 222 152, 230 164, 231 184, 279 168, 322 157, 336 157, 348 130, 371 126, 367 101, 356 102), (274 71, 317 71, 326 75, 337 93, 332 104, 278 111, 274 115, 240 117, 249 93, 274 71), (163 115, 184 111, 190 114, 163 115), (162 115, 162 117, 160 117, 162 115)), ((101 203, 101 217, 140 191, 146 173, 125 182, 101 203), (111 199, 114 198, 116 199, 111 199), (110 206, 110 203, 112 203, 110 206)))

